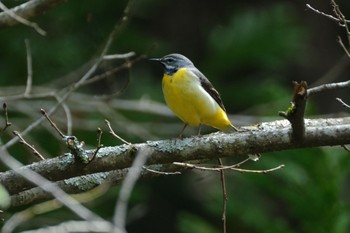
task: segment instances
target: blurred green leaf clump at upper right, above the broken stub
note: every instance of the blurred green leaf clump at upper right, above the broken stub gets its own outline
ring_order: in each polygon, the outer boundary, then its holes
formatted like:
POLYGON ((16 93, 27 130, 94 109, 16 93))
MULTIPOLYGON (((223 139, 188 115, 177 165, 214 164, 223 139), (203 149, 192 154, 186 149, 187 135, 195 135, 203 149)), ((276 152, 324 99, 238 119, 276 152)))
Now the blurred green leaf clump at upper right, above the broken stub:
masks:
POLYGON ((304 38, 304 28, 289 4, 243 9, 227 26, 210 33, 207 66, 218 75, 239 69, 281 70, 302 58, 304 38))

